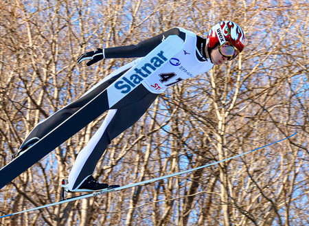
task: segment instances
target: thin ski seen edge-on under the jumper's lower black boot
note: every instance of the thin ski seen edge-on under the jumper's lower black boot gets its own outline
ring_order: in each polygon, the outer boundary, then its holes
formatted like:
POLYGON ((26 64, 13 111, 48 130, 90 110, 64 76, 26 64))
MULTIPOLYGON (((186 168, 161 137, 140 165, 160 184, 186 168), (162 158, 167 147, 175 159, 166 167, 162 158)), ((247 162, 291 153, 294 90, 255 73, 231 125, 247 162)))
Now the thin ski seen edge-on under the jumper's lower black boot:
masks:
POLYGON ((71 198, 66 199, 66 200, 58 201, 56 203, 50 203, 50 204, 47 204, 47 205, 42 205, 42 206, 39 206, 39 207, 34 207, 32 209, 29 209, 29 210, 23 210, 21 212, 15 212, 13 214, 8 214, 8 215, 5 215, 5 216, 0 216, 0 218, 4 218, 4 217, 8 217, 8 216, 14 216, 16 214, 23 214, 25 212, 30 212, 30 211, 34 211, 34 210, 40 210, 40 209, 43 209, 43 208, 46 208, 46 207, 51 207, 51 206, 54 206, 54 205, 60 205, 60 204, 63 204, 63 203, 68 203, 68 202, 76 201, 76 200, 79 200, 79 199, 86 199, 86 198, 90 198, 90 197, 93 197, 93 196, 98 196, 98 195, 101 195, 101 194, 107 194, 109 192, 116 192, 116 191, 124 190, 124 189, 127 189, 127 188, 133 188, 133 187, 136 187, 136 186, 139 186, 139 185, 146 185, 146 184, 149 184, 149 183, 152 183, 152 182, 155 182, 155 181, 159 181, 159 180, 163 180, 163 179, 168 179, 170 177, 176 177, 176 176, 179 176, 180 174, 185 174, 187 172, 193 172, 195 170, 200 170, 200 169, 206 168, 208 166, 214 166, 214 165, 216 165, 218 163, 221 163, 221 162, 224 162, 224 161, 228 161, 230 159, 235 159, 236 157, 240 157, 242 155, 247 155, 250 152, 253 152, 255 150, 259 150, 259 149, 265 148, 267 146, 271 146, 272 144, 276 144, 278 142, 282 142, 285 139, 293 137, 295 134, 297 134, 297 133, 294 133, 293 135, 290 135, 289 137, 286 137, 284 139, 280 139, 280 140, 278 140, 276 142, 273 142, 271 144, 266 144, 265 146, 262 146, 260 148, 256 148, 254 150, 249 150, 249 151, 241 153, 239 155, 235 155, 235 156, 229 157, 227 159, 222 159, 222 160, 216 161, 214 163, 209 163, 209 164, 204 165, 204 166, 199 166, 197 168, 192 168, 190 170, 184 170, 184 171, 181 171, 181 172, 176 172, 174 174, 165 175, 163 177, 157 177, 157 178, 154 178, 154 179, 149 179, 147 181, 141 181, 141 182, 137 182, 137 183, 128 184, 128 185, 124 185, 124 186, 118 187, 118 188, 106 188, 106 189, 101 190, 99 192, 95 192, 95 193, 91 193, 91 194, 83 194, 81 196, 76 196, 76 197, 71 197, 71 198))

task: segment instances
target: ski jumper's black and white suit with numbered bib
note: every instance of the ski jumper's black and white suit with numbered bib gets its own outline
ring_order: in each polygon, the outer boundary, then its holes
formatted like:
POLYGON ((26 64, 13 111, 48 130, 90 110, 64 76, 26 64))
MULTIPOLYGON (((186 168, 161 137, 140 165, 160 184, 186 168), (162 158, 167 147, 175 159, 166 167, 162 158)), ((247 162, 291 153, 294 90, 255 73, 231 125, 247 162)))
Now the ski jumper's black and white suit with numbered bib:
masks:
MULTIPOLYGON (((67 117, 78 111, 89 100, 98 95, 98 93, 104 91, 106 87, 128 71, 130 67, 139 63, 141 57, 146 56, 170 35, 177 35, 183 39, 185 44, 183 49, 171 58, 169 63, 155 71, 155 73, 146 78, 138 87, 108 110, 104 122, 93 137, 91 137, 88 144, 80 150, 76 158, 76 162, 69 174, 69 190, 76 190, 93 173, 96 164, 100 157, 102 157, 108 144, 111 144, 112 139, 135 124, 160 93, 173 84, 209 71, 214 66, 205 54, 205 38, 201 38, 183 28, 174 27, 137 45, 103 49, 104 58, 137 59, 113 71, 96 84, 95 87, 84 93, 81 98, 71 102, 71 104, 68 104, 39 123, 23 142, 25 144, 33 137, 41 138, 46 135, 58 124, 66 120, 67 117)), ((143 72, 137 71, 138 73, 142 74, 143 72)), ((125 86, 122 88, 126 89, 125 86)))

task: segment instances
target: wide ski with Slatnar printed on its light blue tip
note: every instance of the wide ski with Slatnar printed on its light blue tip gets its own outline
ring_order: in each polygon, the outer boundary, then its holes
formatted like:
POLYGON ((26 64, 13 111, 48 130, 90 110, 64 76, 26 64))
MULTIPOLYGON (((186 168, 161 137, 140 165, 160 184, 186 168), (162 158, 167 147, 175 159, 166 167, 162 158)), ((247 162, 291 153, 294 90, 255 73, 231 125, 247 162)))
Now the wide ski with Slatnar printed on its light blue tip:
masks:
POLYGON ((111 86, 98 93, 76 113, 50 131, 45 137, 31 146, 22 155, 14 158, 0 170, 0 189, 10 183, 21 173, 40 161, 43 157, 60 146, 67 139, 78 133, 84 126, 102 115, 135 89, 146 77, 169 63, 170 58, 183 48, 183 40, 179 36, 168 36, 160 45, 152 49, 139 63, 131 67, 111 86), (144 72, 143 72, 144 71, 144 72), (108 101, 106 101, 108 100, 108 101), (69 130, 67 128, 70 128, 69 130))

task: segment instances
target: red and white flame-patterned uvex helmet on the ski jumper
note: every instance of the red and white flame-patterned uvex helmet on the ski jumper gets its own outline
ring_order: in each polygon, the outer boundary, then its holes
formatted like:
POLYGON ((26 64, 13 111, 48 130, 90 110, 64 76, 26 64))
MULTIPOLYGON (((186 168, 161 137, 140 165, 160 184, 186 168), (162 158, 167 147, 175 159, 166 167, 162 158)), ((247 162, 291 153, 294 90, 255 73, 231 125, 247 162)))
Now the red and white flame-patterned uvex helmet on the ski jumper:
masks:
MULTIPOLYGON (((245 45, 244 32, 237 23, 232 21, 216 23, 207 34, 206 45, 209 48, 214 48, 218 43, 220 43, 220 46, 226 43, 233 45, 237 49, 237 52, 240 53, 245 45)), ((233 55, 229 60, 235 58, 238 53, 233 55)))

